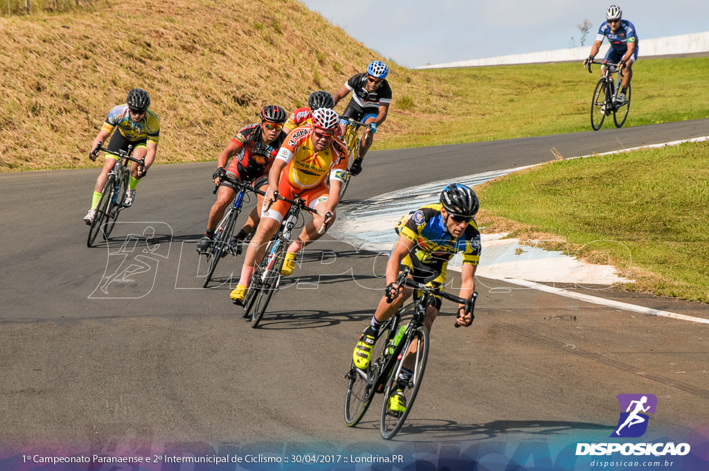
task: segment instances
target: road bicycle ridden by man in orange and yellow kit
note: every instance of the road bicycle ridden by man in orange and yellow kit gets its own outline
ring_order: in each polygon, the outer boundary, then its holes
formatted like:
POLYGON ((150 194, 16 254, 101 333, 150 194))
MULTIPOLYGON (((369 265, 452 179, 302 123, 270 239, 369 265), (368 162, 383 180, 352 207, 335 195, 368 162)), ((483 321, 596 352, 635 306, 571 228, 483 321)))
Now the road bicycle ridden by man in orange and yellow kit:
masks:
MULTIPOLYGON (((278 231, 273 235, 266 248, 263 259, 254 270, 249 288, 244 296, 244 317, 251 317, 251 326, 256 328, 261 321, 274 293, 281 284, 281 269, 286 257, 286 250, 291 243, 291 233, 301 216, 301 210, 322 216, 316 209, 308 208, 301 198, 288 199, 278 196, 281 201, 291 204, 278 231)), ((270 204, 267 206, 270 207, 270 204)), ((324 216, 328 218, 327 215, 324 216)), ((320 227, 318 233, 325 233, 326 225, 320 227)))

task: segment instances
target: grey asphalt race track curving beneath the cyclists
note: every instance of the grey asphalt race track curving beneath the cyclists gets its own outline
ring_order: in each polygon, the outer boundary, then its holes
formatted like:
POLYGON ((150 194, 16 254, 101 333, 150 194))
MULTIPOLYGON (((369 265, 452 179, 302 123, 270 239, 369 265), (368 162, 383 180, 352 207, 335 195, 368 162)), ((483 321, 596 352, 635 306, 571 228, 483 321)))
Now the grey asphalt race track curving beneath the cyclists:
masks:
MULTIPOLYGON (((571 157, 704 135, 709 120, 373 151, 345 204, 553 160, 551 148, 571 157)), ((220 263, 222 284, 200 288, 194 244, 214 201, 213 167, 153 167, 97 248, 86 248, 82 218, 99 165, 0 175, 0 443, 106 453, 391 445, 379 438, 380 397, 356 428, 342 419, 343 375, 386 260, 326 236, 252 329, 228 299, 242 256, 220 263)), ((435 323, 425 381, 396 445, 603 441, 625 393, 657 396, 648 439, 707 430, 708 325, 489 279, 477 289, 471 328, 452 327, 451 304, 435 323)), ((705 305, 588 292, 709 318, 705 305)))

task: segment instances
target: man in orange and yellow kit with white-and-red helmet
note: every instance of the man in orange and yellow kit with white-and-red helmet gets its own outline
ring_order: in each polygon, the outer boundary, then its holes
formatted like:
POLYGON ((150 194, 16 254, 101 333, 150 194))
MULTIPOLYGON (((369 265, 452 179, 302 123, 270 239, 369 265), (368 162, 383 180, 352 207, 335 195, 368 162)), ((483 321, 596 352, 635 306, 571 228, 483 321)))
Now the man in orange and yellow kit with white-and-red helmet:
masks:
POLYGON ((309 207, 320 214, 303 227, 298 238, 291 243, 286 253, 281 273, 290 275, 295 268, 298 252, 313 240, 318 240, 318 230, 323 223, 335 221, 335 206, 340 201, 340 185, 347 170, 347 149, 335 138, 340 117, 331 109, 313 111, 313 125, 294 129, 286 138, 269 172, 269 188, 264 196, 261 222, 244 257, 241 277, 230 298, 242 304, 255 267, 264 257, 268 241, 278 231, 290 208, 286 201, 277 199, 279 194, 288 199, 302 198, 309 207), (330 176, 330 188, 326 179, 330 176))

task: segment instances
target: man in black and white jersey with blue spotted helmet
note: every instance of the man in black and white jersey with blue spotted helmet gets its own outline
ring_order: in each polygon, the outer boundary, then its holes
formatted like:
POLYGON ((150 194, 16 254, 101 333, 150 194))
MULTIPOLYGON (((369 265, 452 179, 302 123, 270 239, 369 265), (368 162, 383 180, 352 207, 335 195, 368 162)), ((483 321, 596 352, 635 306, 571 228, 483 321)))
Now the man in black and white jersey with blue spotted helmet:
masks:
POLYGON ((352 155, 354 159, 350 166, 350 173, 353 175, 362 172, 362 159, 367 153, 372 142, 376 128, 381 126, 386 120, 386 113, 389 112, 391 103, 391 87, 386 81, 389 75, 389 67, 380 60, 373 60, 367 67, 367 72, 353 75, 345 85, 333 95, 335 105, 352 92, 352 99, 347 104, 347 108, 342 112, 340 121, 340 133, 345 133, 347 118, 354 118, 363 123, 369 123, 369 131, 362 137, 362 146, 359 148, 359 155, 352 155))

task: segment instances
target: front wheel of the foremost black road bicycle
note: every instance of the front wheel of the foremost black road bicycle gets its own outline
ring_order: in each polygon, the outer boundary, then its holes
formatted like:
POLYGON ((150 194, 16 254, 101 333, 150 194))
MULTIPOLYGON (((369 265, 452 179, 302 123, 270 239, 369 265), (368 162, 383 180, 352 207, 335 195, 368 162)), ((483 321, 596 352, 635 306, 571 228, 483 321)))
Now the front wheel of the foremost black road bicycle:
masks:
POLYGON ((379 431, 381 432, 381 438, 384 438, 384 440, 390 440, 398 433, 406 417, 408 417, 408 413, 411 412, 413 401, 416 399, 418 389, 421 387, 423 372, 426 369, 428 343, 428 328, 420 326, 411 331, 402 350, 401 358, 396 362, 396 367, 394 367, 389 380, 386 382, 384 404, 381 406, 381 421, 379 422, 379 431), (403 379, 398 379, 398 375, 401 372, 401 367, 407 357, 406 352, 409 350, 408 347, 410 345, 414 345, 413 351, 410 353, 410 355, 413 355, 412 374, 411 378, 404 381, 403 379), (391 408, 393 396, 397 394, 399 389, 401 389, 403 396, 406 398, 403 411, 392 410, 391 408))

